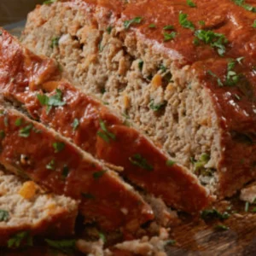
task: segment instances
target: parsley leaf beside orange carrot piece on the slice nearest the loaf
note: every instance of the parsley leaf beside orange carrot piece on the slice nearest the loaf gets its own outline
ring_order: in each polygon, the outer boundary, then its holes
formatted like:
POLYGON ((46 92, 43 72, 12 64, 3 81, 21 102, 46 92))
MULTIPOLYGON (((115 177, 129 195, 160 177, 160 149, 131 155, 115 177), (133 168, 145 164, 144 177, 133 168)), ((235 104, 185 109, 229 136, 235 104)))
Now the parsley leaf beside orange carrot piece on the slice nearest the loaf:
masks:
POLYGON ((42 106, 47 106, 46 113, 49 113, 52 107, 61 107, 66 105, 66 102, 62 101, 62 92, 60 89, 56 89, 55 95, 53 96, 38 94, 38 101, 42 106))

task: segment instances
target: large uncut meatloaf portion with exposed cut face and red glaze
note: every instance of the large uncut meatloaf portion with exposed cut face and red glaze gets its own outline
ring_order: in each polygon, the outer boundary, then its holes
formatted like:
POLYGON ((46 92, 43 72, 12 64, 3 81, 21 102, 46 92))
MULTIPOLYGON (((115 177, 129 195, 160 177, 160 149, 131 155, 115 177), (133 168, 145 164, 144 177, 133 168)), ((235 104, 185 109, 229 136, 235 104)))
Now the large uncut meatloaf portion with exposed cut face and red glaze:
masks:
POLYGON ((55 57, 219 197, 255 177, 255 4, 73 0, 38 6, 23 44, 55 57))

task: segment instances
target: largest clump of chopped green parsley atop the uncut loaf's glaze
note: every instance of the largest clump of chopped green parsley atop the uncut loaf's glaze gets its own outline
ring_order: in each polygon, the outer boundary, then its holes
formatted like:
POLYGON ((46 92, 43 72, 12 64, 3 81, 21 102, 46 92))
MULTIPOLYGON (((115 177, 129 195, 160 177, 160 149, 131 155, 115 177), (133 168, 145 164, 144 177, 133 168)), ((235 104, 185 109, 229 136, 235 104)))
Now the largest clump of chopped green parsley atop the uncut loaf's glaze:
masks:
POLYGON ((218 55, 224 55, 226 51, 225 44, 228 43, 228 39, 224 34, 216 33, 211 30, 197 30, 195 37, 205 44, 210 44, 212 48, 217 49, 218 55))

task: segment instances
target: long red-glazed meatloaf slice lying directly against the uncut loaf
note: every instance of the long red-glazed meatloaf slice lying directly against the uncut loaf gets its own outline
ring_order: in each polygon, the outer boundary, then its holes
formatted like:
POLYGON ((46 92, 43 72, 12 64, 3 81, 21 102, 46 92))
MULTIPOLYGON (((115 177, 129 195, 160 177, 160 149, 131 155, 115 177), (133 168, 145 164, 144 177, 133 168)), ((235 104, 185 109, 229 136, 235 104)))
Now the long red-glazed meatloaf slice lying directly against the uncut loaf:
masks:
POLYGON ((195 176, 132 128, 129 120, 61 79, 55 61, 33 55, 6 32, 0 38, 0 56, 0 72, 7 74, 0 78, 1 93, 34 119, 97 158, 123 166, 120 175, 172 207, 198 212, 211 201, 195 176), (50 103, 57 103, 58 97, 58 104, 50 103))

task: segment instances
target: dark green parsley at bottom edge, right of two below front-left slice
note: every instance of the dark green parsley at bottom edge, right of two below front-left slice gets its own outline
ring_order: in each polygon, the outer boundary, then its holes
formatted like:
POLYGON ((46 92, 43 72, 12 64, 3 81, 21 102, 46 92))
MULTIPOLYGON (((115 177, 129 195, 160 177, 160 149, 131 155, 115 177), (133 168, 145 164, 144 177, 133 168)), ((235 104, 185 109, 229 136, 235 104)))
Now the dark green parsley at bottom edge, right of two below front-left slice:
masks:
POLYGON ((70 240, 49 240, 45 239, 49 247, 52 247, 61 253, 73 254, 76 248, 76 241, 70 240))

